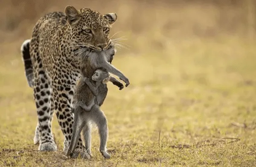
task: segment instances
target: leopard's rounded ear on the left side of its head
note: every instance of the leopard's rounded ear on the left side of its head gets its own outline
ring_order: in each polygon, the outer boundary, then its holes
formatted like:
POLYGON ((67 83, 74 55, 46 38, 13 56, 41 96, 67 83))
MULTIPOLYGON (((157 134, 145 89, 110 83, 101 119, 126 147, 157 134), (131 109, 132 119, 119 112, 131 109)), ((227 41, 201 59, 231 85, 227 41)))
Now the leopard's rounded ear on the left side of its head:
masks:
POLYGON ((73 6, 67 6, 65 8, 65 14, 67 23, 69 23, 70 26, 73 26, 76 23, 78 23, 81 18, 79 12, 73 6))

